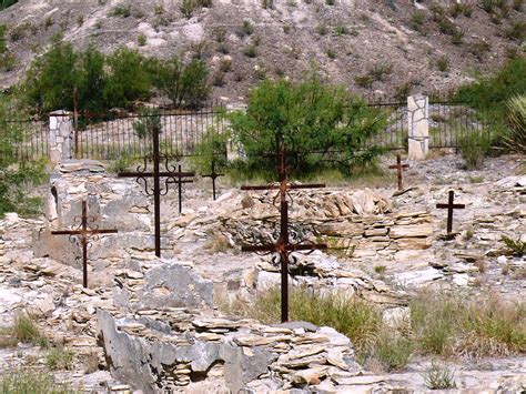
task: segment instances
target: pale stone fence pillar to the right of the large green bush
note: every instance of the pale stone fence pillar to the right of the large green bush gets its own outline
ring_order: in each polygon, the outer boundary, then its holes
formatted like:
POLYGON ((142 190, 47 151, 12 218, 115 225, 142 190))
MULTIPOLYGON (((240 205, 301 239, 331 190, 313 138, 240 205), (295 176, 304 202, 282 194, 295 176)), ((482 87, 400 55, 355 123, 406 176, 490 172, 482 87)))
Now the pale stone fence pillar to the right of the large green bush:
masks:
POLYGON ((424 160, 429 151, 429 98, 415 94, 407 98, 409 160, 424 160))

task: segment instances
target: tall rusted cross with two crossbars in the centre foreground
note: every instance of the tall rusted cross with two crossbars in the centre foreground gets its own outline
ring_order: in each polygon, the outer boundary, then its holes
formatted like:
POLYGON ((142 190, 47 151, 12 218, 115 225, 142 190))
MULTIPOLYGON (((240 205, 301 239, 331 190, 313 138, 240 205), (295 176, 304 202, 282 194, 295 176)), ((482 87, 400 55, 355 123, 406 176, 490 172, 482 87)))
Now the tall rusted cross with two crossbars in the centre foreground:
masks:
POLYGON ((326 249, 327 245, 324 243, 314 244, 301 244, 291 243, 289 239, 289 201, 286 195, 289 190, 296 189, 314 189, 325 188, 323 183, 313 184, 292 184, 287 180, 286 174, 286 152, 283 143, 277 144, 280 149, 281 163, 279 165, 279 183, 259 185, 259 186, 242 186, 241 190, 279 190, 279 194, 274 198, 274 201, 280 198, 280 238, 274 244, 254 245, 254 246, 242 246, 243 252, 259 252, 263 254, 277 253, 281 263, 281 321, 289 321, 289 257, 292 252, 296 251, 314 251, 326 249))

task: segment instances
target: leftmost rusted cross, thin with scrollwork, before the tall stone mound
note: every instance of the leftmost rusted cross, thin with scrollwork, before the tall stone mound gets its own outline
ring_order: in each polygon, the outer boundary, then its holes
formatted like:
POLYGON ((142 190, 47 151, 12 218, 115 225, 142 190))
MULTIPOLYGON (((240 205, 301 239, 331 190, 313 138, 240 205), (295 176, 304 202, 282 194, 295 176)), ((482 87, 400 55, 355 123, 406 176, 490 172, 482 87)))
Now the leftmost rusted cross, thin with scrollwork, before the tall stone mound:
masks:
POLYGON ((51 231, 53 235, 69 235, 70 241, 74 242, 73 235, 78 235, 82 245, 82 285, 88 287, 88 244, 90 239, 97 238, 99 234, 114 234, 117 229, 99 229, 98 225, 89 224, 95 221, 94 216, 88 216, 88 204, 85 200, 82 201, 82 216, 75 216, 74 221, 80 221, 80 225, 74 230, 57 230, 51 231))

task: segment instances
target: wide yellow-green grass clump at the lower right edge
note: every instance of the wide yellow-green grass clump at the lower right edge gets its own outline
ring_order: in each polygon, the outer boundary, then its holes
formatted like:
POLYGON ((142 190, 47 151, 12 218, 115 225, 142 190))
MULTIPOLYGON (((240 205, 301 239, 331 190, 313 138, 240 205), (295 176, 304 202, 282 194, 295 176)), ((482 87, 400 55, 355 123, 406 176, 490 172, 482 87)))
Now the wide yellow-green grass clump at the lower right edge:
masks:
POLYGON ((471 357, 526 350, 526 305, 494 295, 476 301, 423 293, 409 303, 413 337, 422 354, 471 357))

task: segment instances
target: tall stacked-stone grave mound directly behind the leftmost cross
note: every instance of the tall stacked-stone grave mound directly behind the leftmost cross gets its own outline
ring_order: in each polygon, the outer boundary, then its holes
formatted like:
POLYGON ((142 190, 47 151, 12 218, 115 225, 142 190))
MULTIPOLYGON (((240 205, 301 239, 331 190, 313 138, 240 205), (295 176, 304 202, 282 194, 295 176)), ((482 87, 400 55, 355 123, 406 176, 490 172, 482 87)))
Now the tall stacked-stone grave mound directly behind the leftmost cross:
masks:
MULTIPOLYGON (((150 250, 150 208, 146 198, 134 193, 131 180, 109 175, 102 163, 93 160, 67 160, 51 174, 45 199, 45 224, 33 232, 37 256, 50 256, 63 264, 79 265, 81 249, 67 236, 53 236, 52 230, 79 225, 82 200, 88 214, 94 218, 90 225, 118 229, 119 234, 100 236, 90 250, 90 261, 129 259, 131 250, 150 250)), ((105 263, 104 263, 105 264, 105 263)))

